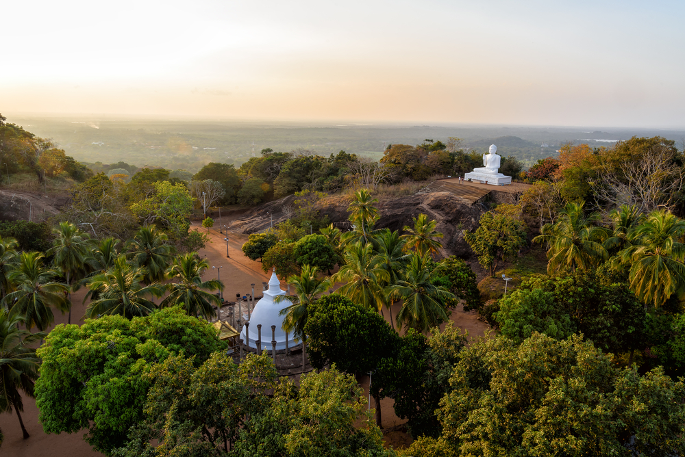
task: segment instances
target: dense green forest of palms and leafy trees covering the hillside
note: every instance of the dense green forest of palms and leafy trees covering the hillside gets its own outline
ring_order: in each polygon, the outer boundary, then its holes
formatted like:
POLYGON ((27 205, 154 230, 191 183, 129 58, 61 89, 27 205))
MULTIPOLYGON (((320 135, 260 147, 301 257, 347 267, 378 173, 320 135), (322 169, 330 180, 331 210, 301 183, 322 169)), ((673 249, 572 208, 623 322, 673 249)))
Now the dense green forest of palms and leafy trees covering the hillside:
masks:
POLYGON ((436 220, 379 229, 377 204, 481 166, 482 153, 456 137, 382 149, 375 161, 264 148, 195 174, 94 168, 0 116, 5 188, 71 196, 45 222, 0 223, 0 413, 21 422, 21 393, 35 397, 46 432, 86 430, 111 456, 684 454, 682 148, 636 136, 562 144, 528 167, 503 157, 500 172, 530 187, 486 201, 463 231, 480 282, 436 220), (330 195, 346 228, 319 207, 330 195), (295 289, 283 328, 316 368, 297 385, 266 355, 227 356, 210 324, 224 286, 201 278, 206 236, 190 229, 210 229, 212 207, 286 196, 288 220, 249 235, 242 254, 295 289), (545 261, 525 265, 536 250, 545 261), (506 295, 482 287, 499 276, 513 280, 506 295), (81 288, 84 324, 46 334, 81 288), (459 307, 490 333, 450 324, 459 307), (354 377, 370 371, 375 420, 354 377), (406 449, 383 445, 386 397, 406 449))

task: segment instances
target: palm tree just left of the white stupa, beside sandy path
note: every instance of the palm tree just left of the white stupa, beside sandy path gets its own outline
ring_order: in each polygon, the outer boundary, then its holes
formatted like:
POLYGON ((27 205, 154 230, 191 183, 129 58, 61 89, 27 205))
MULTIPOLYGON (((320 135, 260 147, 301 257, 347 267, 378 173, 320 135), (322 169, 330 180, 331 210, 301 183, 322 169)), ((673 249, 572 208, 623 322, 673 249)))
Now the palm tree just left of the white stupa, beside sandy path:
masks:
POLYGON ((206 259, 197 259, 195 252, 188 252, 174 259, 166 277, 178 280, 166 286, 169 295, 162 300, 160 308, 183 303, 188 315, 201 313, 206 319, 214 319, 216 311, 212 304, 221 306, 221 298, 212 291, 223 291, 223 283, 216 279, 202 280, 202 274, 210 267, 206 259))

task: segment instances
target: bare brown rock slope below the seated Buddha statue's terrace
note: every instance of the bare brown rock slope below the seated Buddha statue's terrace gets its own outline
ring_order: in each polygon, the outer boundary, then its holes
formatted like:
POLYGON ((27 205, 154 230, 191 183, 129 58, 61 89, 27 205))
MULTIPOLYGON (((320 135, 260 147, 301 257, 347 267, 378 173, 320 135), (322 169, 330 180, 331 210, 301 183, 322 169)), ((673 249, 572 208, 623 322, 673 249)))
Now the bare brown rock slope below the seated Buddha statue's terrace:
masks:
MULTIPOLYGON (((261 205, 245 213, 231 224, 231 229, 240 233, 257 233, 269 229, 271 216, 273 224, 292 216, 292 196, 261 205)), ((349 198, 345 196, 328 197, 318 204, 321 215, 327 214, 331 222, 340 229, 348 229, 347 207, 349 198)), ((412 226, 412 218, 424 213, 438 222, 436 231, 443 233, 443 255, 472 257, 473 252, 464 241, 463 230, 473 230, 485 209, 479 205, 467 205, 449 192, 432 192, 395 198, 382 198, 376 203, 381 216, 377 229, 388 228, 401 231, 403 226, 412 226)))

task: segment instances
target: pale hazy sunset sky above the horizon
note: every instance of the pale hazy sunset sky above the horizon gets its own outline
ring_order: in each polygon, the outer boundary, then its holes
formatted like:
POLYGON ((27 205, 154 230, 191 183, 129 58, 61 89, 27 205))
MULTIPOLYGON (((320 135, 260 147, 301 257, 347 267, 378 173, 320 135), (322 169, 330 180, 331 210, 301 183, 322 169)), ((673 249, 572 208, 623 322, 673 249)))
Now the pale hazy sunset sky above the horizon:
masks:
POLYGON ((684 1, 22 0, 0 113, 685 128, 684 1))

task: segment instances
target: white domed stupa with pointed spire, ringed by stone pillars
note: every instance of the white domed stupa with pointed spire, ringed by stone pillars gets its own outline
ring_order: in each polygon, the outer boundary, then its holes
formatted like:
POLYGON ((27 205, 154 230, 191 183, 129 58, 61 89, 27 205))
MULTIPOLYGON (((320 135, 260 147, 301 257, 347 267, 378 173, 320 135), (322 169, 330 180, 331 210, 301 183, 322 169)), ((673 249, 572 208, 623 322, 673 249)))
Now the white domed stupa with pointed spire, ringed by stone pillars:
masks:
MULTIPOLYGON (((264 297, 257 302, 252 310, 249 321, 249 335, 245 335, 245 328, 247 327, 243 327, 240 331, 240 339, 242 339, 243 343, 247 344, 247 341, 249 341, 249 347, 256 348, 259 339, 257 325, 262 324, 262 349, 271 351, 271 326, 275 325, 276 350, 286 348, 286 332, 282 328, 285 316, 281 316, 278 313, 290 306, 292 302, 290 300, 283 300, 279 303, 273 301, 274 297, 285 294, 286 291, 281 289, 281 283, 276 273, 273 272, 271 279, 269 279, 269 290, 264 291, 264 297)), ((295 344, 293 335, 288 334, 289 347, 292 348, 295 344)))

